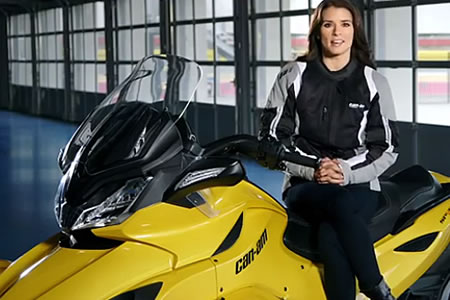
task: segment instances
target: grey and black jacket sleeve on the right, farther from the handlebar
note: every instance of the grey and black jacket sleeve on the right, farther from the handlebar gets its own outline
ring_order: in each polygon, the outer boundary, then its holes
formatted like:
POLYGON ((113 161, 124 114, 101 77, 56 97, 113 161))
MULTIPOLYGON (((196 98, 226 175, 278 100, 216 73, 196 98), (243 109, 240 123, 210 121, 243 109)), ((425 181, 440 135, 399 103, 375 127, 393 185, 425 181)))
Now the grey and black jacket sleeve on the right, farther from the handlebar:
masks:
MULTIPOLYGON (((344 185, 370 182, 383 174, 397 160, 399 137, 391 89, 384 76, 366 67, 371 93, 365 132, 360 136, 366 150, 348 160, 340 160, 344 185)), ((363 121, 364 122, 364 121, 363 121)))

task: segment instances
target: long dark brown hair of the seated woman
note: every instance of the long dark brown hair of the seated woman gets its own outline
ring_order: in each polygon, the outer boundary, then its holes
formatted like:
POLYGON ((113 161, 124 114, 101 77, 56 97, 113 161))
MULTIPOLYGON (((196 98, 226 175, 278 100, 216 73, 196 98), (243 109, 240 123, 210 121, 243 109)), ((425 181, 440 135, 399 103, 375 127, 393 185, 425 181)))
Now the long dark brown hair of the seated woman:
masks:
POLYGON ((351 49, 352 56, 361 63, 375 68, 375 63, 372 60, 372 52, 364 33, 361 14, 349 0, 324 0, 317 6, 311 19, 311 26, 308 34, 308 51, 305 55, 298 57, 297 60, 311 61, 322 57, 322 44, 319 38, 320 27, 323 22, 323 11, 329 7, 345 8, 350 11, 353 17, 353 27, 355 29, 351 49))

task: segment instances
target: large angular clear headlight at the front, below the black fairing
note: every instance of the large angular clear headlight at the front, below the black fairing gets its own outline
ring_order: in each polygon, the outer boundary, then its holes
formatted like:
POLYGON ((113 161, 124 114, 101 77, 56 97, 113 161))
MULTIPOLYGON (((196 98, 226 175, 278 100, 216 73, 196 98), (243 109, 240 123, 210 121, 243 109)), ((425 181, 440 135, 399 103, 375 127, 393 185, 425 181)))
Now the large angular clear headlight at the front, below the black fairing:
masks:
POLYGON ((137 178, 127 183, 99 205, 84 209, 71 230, 118 224, 153 177, 137 178))

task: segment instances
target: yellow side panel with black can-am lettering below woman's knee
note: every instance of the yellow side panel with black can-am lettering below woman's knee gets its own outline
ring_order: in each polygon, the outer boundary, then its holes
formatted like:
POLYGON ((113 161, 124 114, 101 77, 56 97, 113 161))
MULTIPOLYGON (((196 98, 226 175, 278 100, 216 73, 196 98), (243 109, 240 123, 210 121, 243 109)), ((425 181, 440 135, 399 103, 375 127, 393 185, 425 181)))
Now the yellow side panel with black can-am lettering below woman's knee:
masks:
POLYGON ((244 212, 246 225, 239 240, 228 251, 213 257, 219 299, 243 299, 242 295, 247 294, 255 299, 326 299, 318 267, 284 246, 286 221, 285 216, 270 210, 244 212), (261 240, 265 240, 262 249, 261 240), (267 297, 256 291, 265 291, 267 297))

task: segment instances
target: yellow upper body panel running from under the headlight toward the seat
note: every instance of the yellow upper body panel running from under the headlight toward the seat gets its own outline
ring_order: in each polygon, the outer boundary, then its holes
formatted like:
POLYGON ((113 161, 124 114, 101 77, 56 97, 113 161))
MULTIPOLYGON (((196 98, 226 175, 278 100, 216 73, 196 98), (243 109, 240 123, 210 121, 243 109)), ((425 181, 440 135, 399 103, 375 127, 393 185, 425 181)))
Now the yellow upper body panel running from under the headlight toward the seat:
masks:
POLYGON ((246 207, 283 211, 267 194, 247 182, 201 193, 207 204, 219 213, 216 217, 207 217, 196 208, 159 203, 138 211, 119 226, 94 232, 105 238, 139 241, 167 249, 176 253, 178 268, 211 257, 246 207))

